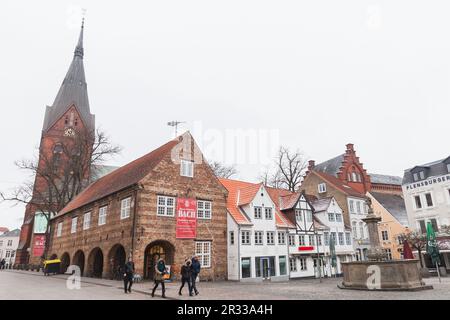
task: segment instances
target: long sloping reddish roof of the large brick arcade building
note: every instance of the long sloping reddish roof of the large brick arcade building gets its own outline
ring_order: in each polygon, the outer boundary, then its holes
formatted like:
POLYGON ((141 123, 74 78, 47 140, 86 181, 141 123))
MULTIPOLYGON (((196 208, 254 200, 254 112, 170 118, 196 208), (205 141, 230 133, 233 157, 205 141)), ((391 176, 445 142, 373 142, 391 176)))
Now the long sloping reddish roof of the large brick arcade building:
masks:
POLYGON ((120 167, 98 179, 70 201, 56 217, 128 188, 142 180, 166 154, 180 142, 181 137, 169 141, 145 156, 120 167))

